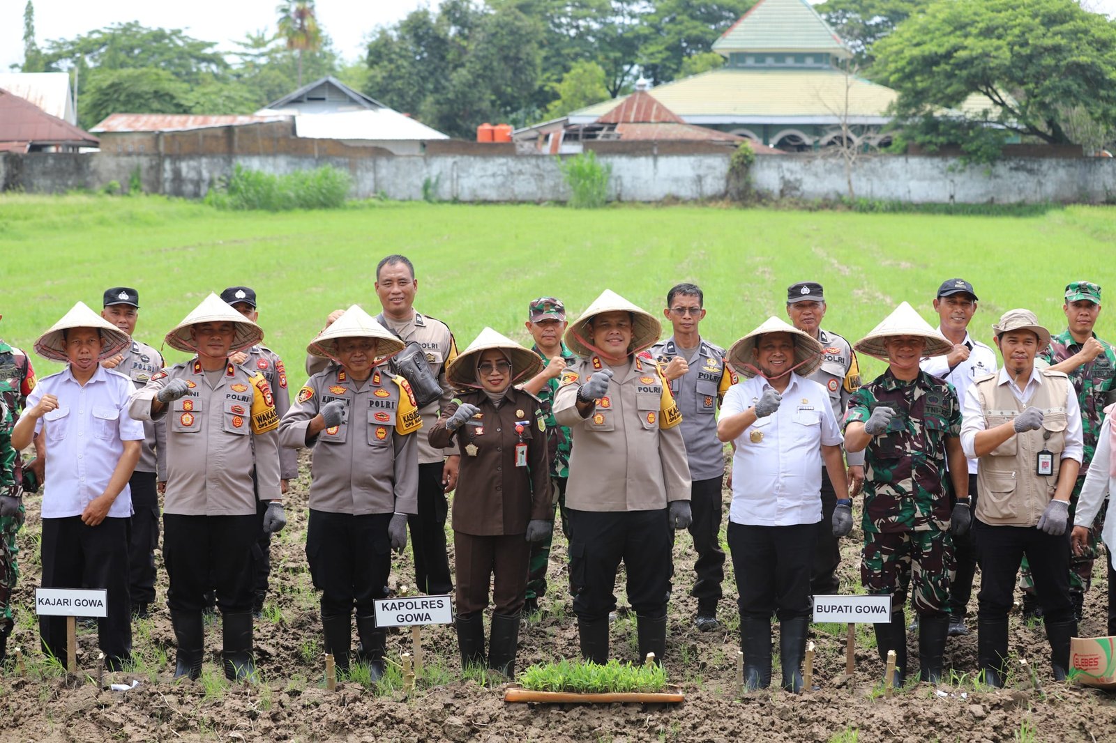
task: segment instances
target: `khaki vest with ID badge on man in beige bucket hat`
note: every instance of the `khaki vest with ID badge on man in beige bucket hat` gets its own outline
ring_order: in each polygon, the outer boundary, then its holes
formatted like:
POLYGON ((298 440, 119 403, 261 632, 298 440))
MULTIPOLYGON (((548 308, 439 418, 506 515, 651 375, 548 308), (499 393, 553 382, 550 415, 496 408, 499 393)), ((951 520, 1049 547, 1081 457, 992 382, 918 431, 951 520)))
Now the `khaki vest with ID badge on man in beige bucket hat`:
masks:
MULTIPOLYGON (((1017 433, 977 466, 977 518, 1001 527, 1033 527, 1054 498, 1058 485, 1061 452, 1066 447, 1066 395, 1069 378, 1061 372, 1042 369, 1042 384, 1026 407, 1042 411, 1042 427, 1017 433), (1054 454, 1049 476, 1035 474, 1038 453, 1054 454)), ((993 428, 1013 419, 1023 411, 1010 385, 998 384, 994 374, 975 382, 977 395, 984 412, 984 425, 993 428)))

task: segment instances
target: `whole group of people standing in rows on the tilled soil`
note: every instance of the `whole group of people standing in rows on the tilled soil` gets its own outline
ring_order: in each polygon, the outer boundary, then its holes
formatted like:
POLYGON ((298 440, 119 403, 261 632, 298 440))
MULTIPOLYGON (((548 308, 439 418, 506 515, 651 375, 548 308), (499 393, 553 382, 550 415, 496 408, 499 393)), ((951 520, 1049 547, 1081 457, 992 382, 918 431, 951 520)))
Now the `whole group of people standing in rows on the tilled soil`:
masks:
MULTIPOLYGON (((690 531, 696 553, 694 626, 720 626, 729 443, 727 541, 750 688, 770 684, 777 617, 782 687, 801 689, 811 597, 839 592, 839 539, 862 493, 860 579, 893 596, 876 636, 882 659, 897 655, 897 681, 908 595, 918 675, 936 681, 946 637, 969 631, 979 565, 980 665, 1002 683, 1024 558, 1027 600, 1065 677, 1116 462, 1101 427, 1116 353, 1093 334, 1096 284, 1067 287, 1069 328, 1054 342, 1033 313, 1006 312, 992 328, 1002 369, 969 334, 978 298, 961 279, 934 298, 936 329, 903 302, 856 344, 821 327, 821 284, 795 283, 789 322, 771 317, 728 350, 701 335, 704 297, 692 283, 667 292, 665 340, 658 317, 606 290, 571 321, 556 297, 530 301, 530 347, 485 328, 461 351, 444 322, 415 310, 417 288, 410 260, 383 259, 382 312, 329 315, 294 403, 282 360, 261 345, 249 287, 210 295, 166 335, 192 355, 171 367, 133 339, 131 288, 106 291, 99 316, 78 302, 39 338, 36 351, 67 367, 38 384, 26 355, 0 346, 0 637, 11 629, 20 494, 38 472, 42 585, 108 589, 99 644, 109 668, 129 656, 129 610, 143 616, 154 600, 161 493, 175 676, 200 673, 212 597, 225 674, 251 678, 268 539, 286 523, 297 452, 309 448, 306 553, 325 649, 340 668, 355 616, 356 658, 374 679, 383 674, 374 601, 410 530, 417 590, 455 595, 462 664, 512 675, 521 618, 547 594, 556 506, 583 657, 613 655, 623 561, 639 657, 661 659, 676 530, 690 531), (862 385, 857 353, 887 369, 862 385), (32 441, 38 459, 22 465, 16 452, 32 441), (1103 473, 1089 469, 1094 452, 1103 473)), ((1114 625, 1109 601, 1110 634, 1114 625)), ((62 655, 57 620, 40 629, 44 649, 62 655)))

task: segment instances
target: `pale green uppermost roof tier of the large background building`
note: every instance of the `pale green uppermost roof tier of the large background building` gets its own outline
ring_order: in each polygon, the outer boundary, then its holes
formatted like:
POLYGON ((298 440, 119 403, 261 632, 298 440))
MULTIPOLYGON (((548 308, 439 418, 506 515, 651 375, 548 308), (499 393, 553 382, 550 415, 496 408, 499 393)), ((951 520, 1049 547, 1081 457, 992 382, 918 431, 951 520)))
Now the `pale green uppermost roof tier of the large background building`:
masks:
POLYGON ((850 57, 839 36, 806 0, 759 0, 713 42, 713 51, 821 51, 850 57))

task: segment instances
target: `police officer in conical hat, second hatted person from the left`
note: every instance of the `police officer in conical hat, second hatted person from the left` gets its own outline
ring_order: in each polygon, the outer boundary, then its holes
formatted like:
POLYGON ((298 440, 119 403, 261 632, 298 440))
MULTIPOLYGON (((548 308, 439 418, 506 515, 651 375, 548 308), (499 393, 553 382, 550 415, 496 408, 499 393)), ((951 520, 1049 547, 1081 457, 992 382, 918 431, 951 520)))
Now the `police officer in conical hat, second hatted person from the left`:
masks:
POLYGON ((198 678, 203 656, 205 591, 217 589, 222 658, 230 679, 254 678, 252 543, 259 500, 270 501, 263 529, 287 520, 279 490, 279 419, 271 388, 229 355, 258 344, 263 331, 210 295, 166 334, 194 357, 154 374, 132 395, 132 417, 166 421, 163 561, 166 604, 177 640, 174 675, 198 678))

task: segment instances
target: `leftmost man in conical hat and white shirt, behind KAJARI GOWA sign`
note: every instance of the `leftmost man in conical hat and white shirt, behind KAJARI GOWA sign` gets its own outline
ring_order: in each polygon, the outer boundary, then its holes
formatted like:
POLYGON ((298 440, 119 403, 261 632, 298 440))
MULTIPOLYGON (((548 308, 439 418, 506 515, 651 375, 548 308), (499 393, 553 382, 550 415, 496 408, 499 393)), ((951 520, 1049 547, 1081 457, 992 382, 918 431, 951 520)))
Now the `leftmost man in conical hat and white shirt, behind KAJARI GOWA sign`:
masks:
MULTIPOLYGON (((75 305, 35 344, 39 356, 67 366, 39 380, 11 434, 17 451, 31 443, 32 434, 46 437, 42 587, 107 589, 97 646, 112 670, 132 655, 128 479, 144 432, 127 414, 132 383, 99 361, 129 345, 126 334, 84 303, 75 305)), ((66 657, 65 617, 40 617, 39 633, 45 653, 66 657)))

